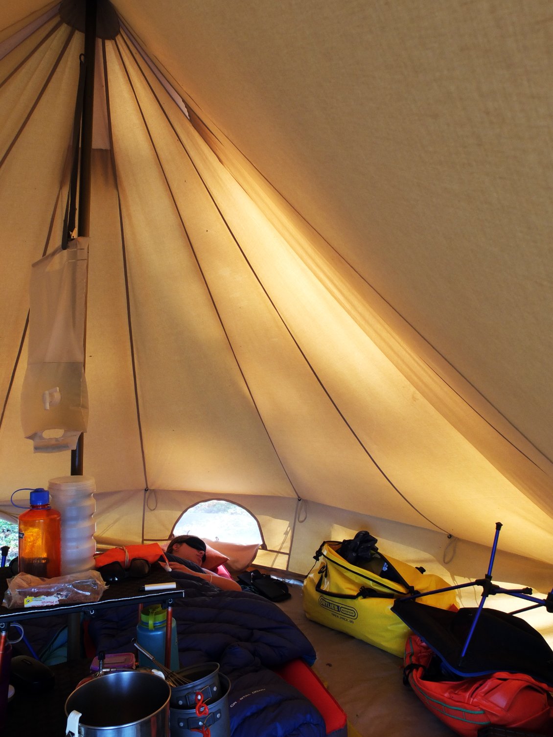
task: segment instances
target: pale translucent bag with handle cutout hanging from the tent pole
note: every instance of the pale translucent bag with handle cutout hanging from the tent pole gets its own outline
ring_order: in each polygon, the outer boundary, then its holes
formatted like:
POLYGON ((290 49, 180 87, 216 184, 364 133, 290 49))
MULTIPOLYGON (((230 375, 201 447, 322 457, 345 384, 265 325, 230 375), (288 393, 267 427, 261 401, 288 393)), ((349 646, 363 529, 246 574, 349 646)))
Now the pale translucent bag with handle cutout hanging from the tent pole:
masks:
POLYGON ((86 433, 87 267, 87 238, 74 239, 32 265, 21 424, 38 453, 74 450, 80 433, 86 433))

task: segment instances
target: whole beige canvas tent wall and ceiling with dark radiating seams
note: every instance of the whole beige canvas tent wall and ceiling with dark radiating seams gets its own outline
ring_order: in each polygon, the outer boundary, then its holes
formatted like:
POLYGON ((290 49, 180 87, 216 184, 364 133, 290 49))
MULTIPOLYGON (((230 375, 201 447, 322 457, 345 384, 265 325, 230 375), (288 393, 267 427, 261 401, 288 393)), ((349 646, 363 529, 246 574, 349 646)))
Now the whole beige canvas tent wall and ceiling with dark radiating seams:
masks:
MULTIPOLYGON (((86 327, 99 538, 163 538, 228 497, 299 572, 369 517, 442 549, 499 520, 505 551, 552 564, 549 3, 113 7, 86 327)), ((29 0, 0 43, 10 514, 14 489, 69 473, 32 453, 19 399, 84 41, 29 0)))

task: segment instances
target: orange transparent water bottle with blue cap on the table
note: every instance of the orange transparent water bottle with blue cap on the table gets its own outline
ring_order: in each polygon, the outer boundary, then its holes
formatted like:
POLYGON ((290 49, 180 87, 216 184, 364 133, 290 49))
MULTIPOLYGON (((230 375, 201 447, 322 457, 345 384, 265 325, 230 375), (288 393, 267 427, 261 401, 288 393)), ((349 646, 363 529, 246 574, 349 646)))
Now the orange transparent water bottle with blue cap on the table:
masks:
POLYGON ((60 575, 61 514, 46 489, 29 495, 30 509, 19 515, 19 573, 43 579, 60 575))

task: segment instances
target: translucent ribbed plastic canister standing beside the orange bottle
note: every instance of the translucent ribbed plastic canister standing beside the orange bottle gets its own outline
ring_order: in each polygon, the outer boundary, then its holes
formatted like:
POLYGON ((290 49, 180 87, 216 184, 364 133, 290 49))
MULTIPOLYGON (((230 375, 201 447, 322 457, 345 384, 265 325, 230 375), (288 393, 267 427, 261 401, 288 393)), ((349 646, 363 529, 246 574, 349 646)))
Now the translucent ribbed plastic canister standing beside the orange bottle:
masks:
POLYGON ((61 575, 94 568, 96 483, 91 476, 51 478, 52 506, 61 513, 61 575))

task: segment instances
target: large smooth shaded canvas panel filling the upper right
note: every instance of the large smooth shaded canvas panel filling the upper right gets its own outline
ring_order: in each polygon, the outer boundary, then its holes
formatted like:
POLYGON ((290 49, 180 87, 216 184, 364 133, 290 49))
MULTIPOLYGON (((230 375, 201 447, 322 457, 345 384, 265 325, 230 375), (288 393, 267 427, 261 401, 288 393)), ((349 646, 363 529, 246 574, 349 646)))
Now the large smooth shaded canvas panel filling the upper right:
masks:
POLYGON ((549 4, 208 2, 155 20, 153 3, 116 5, 201 114, 551 455, 529 396, 546 364, 528 365, 551 283, 549 4))

